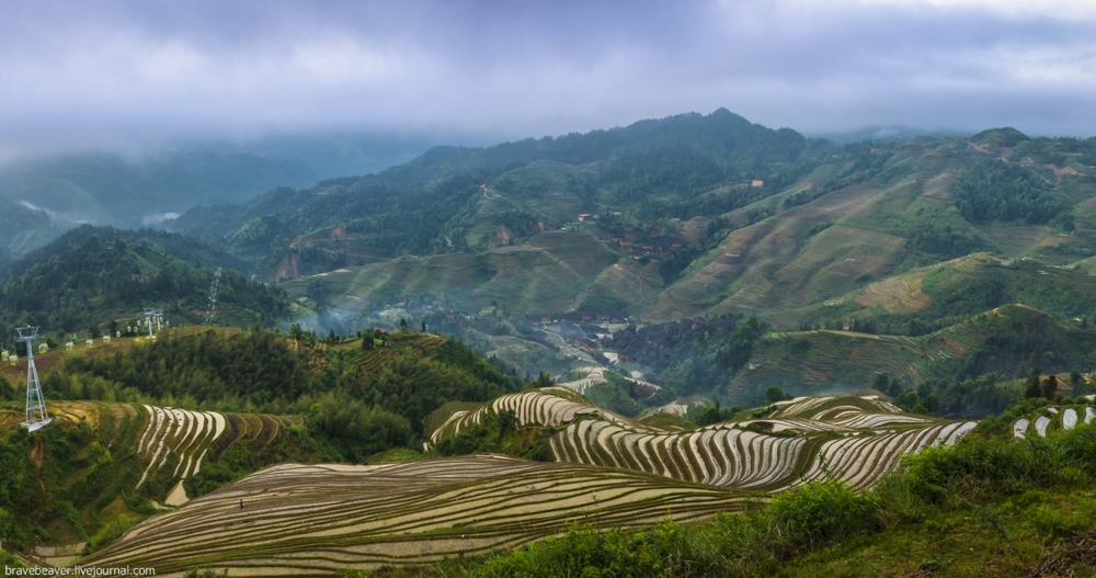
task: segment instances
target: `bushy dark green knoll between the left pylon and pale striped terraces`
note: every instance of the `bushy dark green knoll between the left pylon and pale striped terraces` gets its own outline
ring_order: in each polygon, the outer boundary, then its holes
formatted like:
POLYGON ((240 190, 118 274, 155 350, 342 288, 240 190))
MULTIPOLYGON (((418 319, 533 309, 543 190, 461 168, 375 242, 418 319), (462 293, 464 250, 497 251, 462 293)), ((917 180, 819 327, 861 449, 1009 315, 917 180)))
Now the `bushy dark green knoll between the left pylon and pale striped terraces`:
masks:
POLYGON ((354 462, 421 446, 423 418, 448 401, 520 387, 460 342, 435 336, 369 332, 375 344, 365 350, 365 341, 294 335, 168 331, 125 354, 68 356, 43 387, 52 399, 304 415, 331 440, 329 457, 354 462))

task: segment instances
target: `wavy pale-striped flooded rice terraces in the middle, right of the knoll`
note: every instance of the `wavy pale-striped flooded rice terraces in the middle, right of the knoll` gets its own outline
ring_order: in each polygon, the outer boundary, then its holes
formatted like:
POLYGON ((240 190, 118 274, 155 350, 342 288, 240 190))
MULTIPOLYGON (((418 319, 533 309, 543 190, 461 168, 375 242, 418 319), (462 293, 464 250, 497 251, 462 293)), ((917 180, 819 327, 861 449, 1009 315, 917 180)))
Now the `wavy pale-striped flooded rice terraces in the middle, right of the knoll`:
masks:
POLYGON ((549 439, 557 462, 769 492, 826 475, 863 489, 902 455, 952 444, 977 424, 905 415, 874 397, 804 397, 779 404, 765 418, 681 432, 623 418, 553 387, 454 412, 432 442, 479 422, 488 408, 513 410, 522 426, 559 429, 549 439))

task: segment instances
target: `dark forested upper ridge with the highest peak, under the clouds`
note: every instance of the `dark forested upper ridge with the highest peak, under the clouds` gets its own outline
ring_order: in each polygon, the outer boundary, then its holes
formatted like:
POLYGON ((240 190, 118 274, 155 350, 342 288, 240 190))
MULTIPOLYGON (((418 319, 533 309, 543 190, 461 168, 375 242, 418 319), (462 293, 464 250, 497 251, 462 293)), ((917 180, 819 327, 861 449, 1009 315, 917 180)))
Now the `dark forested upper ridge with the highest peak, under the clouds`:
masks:
POLYGON ((719 110, 482 149, 436 147, 376 175, 273 191, 236 208, 197 208, 173 227, 207 240, 222 237, 267 270, 290 254, 312 270, 480 249, 498 230, 517 231, 506 233, 516 240, 606 206, 646 216, 726 212, 770 194, 834 151, 830 143, 719 110), (698 199, 752 179, 769 184, 698 199), (295 241, 333 227, 350 234, 349 247, 315 243, 320 250, 305 253, 309 243, 295 241))

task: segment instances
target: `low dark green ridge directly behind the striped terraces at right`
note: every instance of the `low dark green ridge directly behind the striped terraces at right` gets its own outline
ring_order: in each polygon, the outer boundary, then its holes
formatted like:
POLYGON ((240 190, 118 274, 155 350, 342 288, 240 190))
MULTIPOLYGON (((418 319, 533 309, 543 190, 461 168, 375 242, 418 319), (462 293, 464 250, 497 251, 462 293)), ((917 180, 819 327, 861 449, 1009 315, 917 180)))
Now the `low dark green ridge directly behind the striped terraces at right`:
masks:
POLYGON ((703 395, 751 406, 773 386, 792 395, 877 388, 895 398, 916 390, 921 398, 937 396, 938 405, 923 412, 949 417, 1000 411, 1019 392, 998 395, 995 384, 1004 387, 1032 370, 1069 374, 1096 365, 1096 328, 1027 305, 955 317, 952 325, 914 336, 865 332, 870 318, 857 319, 856 328, 775 331, 757 318, 696 318, 629 326, 601 345, 627 356, 626 366, 642 367, 647 379, 676 398, 703 395), (887 376, 881 385, 880 374, 887 376), (974 389, 986 394, 971 395, 974 389))

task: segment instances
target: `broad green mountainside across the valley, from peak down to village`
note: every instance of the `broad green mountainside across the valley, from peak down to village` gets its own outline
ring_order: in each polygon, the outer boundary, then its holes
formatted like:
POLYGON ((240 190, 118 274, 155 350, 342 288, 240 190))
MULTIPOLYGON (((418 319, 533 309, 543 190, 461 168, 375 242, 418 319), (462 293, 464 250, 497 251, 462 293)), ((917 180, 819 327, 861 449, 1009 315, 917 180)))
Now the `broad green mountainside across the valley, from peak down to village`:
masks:
MULTIPOLYGON (((208 213, 208 225, 201 212, 180 223, 224 238, 272 279, 342 274, 324 280, 335 304, 430 294, 471 313, 505 297, 512 313, 627 308, 653 321, 756 313, 783 328, 820 319, 803 308, 972 252, 1082 267, 1096 249, 1096 168, 1085 168, 1083 154, 1054 152, 1072 146, 1066 139, 1008 149, 957 137, 823 147, 735 123, 716 113, 640 123, 642 131, 437 149, 366 179, 273 191, 208 213), (677 152, 659 161, 676 172, 651 162, 621 169, 639 162, 638 151, 687 138, 695 143, 684 149, 723 160, 701 163, 684 183, 694 165, 677 152), (580 155, 564 141, 592 148, 580 155), (784 160, 770 152, 775 143, 787 147, 784 160), (739 157, 747 151, 753 165, 739 157), (752 186, 765 171, 772 178, 752 186), (1024 184, 993 196, 1001 182, 1024 184), (595 222, 579 223, 584 212, 595 222), (605 253, 600 269, 544 246, 560 230, 597 238, 605 249, 584 250, 605 253), (539 262, 536 249, 559 267, 539 262), (523 271, 516 277, 512 263, 523 271), (423 271, 438 274, 419 280, 423 271), (538 275, 558 294, 528 291, 538 275)), ((567 242, 578 250, 581 238, 567 242)))

